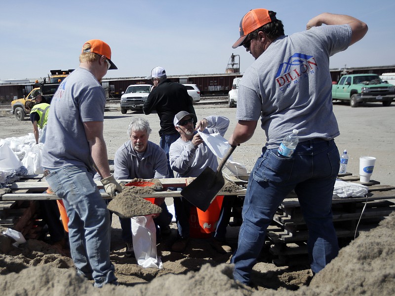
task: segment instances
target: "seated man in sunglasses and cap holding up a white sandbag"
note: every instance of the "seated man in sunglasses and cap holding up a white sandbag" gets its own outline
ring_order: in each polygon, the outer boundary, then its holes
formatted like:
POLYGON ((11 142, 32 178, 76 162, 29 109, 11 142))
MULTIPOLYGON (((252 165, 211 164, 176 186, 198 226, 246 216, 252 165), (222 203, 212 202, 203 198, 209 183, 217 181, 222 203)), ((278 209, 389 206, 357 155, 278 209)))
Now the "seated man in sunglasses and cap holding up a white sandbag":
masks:
MULTIPOLYGON (((173 120, 176 131, 180 134, 170 146, 170 165, 176 178, 197 177, 207 166, 217 170, 217 157, 203 142, 199 133, 219 133, 224 136, 229 127, 229 119, 223 116, 207 116, 197 121, 196 115, 181 111, 173 120)), ((220 253, 229 253, 231 247, 225 242, 226 227, 229 224, 232 198, 224 198, 217 230, 211 241, 213 248, 220 253)), ((189 242, 189 216, 191 203, 183 197, 174 198, 174 210, 178 228, 178 239, 172 245, 175 252, 183 252, 189 242)))

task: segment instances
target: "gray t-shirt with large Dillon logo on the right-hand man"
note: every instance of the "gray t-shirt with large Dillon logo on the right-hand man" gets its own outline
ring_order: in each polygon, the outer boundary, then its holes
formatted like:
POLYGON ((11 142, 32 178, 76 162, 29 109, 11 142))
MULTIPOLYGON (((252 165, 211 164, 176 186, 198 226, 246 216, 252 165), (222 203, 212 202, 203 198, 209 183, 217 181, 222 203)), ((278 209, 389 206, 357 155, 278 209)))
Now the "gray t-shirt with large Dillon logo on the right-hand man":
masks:
POLYGON ((269 149, 293 129, 299 141, 338 136, 329 57, 347 49, 351 34, 349 25, 341 25, 278 37, 240 81, 237 120, 261 117, 269 149))

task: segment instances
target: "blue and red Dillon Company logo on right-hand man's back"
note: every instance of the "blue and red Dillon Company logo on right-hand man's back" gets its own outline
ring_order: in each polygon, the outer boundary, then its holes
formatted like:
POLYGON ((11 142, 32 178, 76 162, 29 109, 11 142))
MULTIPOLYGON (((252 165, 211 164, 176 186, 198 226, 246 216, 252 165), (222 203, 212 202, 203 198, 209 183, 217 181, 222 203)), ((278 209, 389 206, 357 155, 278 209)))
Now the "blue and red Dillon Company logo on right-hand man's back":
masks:
POLYGON ((317 63, 313 56, 295 53, 289 57, 287 62, 278 66, 276 73, 276 82, 279 87, 283 87, 291 82, 298 83, 299 78, 307 77, 309 73, 314 73, 317 63))

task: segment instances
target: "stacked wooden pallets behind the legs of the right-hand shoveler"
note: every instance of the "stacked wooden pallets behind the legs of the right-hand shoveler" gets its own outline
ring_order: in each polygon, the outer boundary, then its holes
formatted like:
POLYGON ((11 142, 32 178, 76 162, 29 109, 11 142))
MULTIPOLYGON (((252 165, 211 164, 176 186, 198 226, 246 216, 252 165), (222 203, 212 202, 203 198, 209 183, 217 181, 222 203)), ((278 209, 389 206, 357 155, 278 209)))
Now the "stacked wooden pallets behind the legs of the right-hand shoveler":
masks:
MULTIPOLYGON (((351 174, 343 175, 340 179, 360 184, 359 177, 351 174)), ((362 184, 369 188, 367 197, 332 199, 333 224, 340 245, 354 239, 358 230, 376 227, 384 217, 395 211, 394 186, 380 185, 374 180, 362 184), (356 229, 359 219, 360 224, 356 229)), ((295 194, 285 198, 279 206, 274 222, 267 230, 267 238, 276 265, 299 264, 303 260, 307 262, 308 229, 295 194)))

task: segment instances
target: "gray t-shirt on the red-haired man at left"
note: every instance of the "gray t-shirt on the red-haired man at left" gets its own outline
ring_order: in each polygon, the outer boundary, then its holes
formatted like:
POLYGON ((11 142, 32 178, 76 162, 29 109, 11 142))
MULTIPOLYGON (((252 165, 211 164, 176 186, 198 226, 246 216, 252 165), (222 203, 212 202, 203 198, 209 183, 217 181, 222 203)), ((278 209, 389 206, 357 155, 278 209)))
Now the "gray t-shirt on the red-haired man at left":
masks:
POLYGON ((104 121, 105 105, 104 89, 88 70, 78 68, 66 77, 49 108, 43 167, 77 165, 94 172, 83 122, 104 121))

